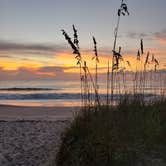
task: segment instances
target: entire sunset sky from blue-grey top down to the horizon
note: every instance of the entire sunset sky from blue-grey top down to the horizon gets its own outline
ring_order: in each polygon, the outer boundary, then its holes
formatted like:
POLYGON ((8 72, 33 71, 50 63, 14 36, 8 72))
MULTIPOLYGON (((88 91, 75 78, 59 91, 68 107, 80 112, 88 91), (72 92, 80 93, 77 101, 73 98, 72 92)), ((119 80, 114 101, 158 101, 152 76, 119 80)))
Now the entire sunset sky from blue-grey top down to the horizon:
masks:
MULTIPOLYGON (((130 15, 121 18, 117 44, 133 65, 144 39, 166 69, 166 0, 127 0, 130 15)), ((80 48, 91 70, 95 66, 92 36, 96 37, 100 73, 112 56, 120 0, 0 0, 0 79, 73 79, 76 60, 61 29, 79 33, 80 48)), ((145 55, 144 55, 145 56, 145 55)), ((153 66, 149 65, 149 69, 153 66)))

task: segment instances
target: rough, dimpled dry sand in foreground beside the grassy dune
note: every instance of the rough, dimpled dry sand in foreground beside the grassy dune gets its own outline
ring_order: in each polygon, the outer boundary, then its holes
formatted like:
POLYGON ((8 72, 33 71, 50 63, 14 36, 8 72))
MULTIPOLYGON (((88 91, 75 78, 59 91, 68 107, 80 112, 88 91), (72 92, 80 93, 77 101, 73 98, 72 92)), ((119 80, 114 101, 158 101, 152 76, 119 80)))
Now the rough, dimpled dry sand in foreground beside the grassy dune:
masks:
POLYGON ((0 166, 51 166, 68 121, 0 122, 0 166))

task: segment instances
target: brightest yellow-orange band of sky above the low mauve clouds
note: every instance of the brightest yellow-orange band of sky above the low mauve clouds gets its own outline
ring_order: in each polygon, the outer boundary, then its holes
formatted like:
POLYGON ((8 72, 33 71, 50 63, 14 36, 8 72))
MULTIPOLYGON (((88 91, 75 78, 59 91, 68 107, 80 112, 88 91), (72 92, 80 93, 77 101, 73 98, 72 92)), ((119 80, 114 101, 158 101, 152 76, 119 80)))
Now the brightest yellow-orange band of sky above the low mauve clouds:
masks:
MULTIPOLYGON (((156 59, 158 59, 158 61, 160 62, 160 66, 159 69, 165 69, 164 64, 166 63, 165 61, 165 57, 166 57, 166 52, 164 51, 159 51, 159 50, 155 50, 155 49, 151 49, 149 50, 150 52, 150 58, 149 61, 151 60, 151 56, 152 54, 155 55, 156 59), (164 61, 163 61, 164 60, 164 61)), ((144 55, 142 56, 142 63, 144 63, 145 58, 146 58, 146 53, 147 51, 145 51, 144 55)), ((110 61, 110 64, 112 63, 112 55, 110 54, 107 55, 108 53, 105 53, 105 55, 103 53, 99 53, 99 63, 98 63, 98 67, 99 72, 105 72, 103 70, 103 68, 107 67, 108 64, 108 60, 110 61)), ((127 70, 135 70, 136 67, 136 54, 137 51, 130 51, 130 52, 126 52, 124 53, 123 57, 124 57, 124 61, 121 62, 121 66, 125 66, 127 68, 127 70), (129 67, 126 63, 126 61, 129 61, 131 63, 131 67, 129 67)), ((25 55, 26 56, 26 55, 25 55)), ((95 60, 92 60, 93 57, 93 53, 89 53, 89 52, 83 52, 82 53, 82 57, 83 59, 87 62, 87 65, 89 66, 89 68, 93 69, 95 68, 95 60)), ((41 61, 41 59, 36 59, 36 60, 24 60, 24 59, 19 59, 19 57, 13 59, 13 58, 4 58, 2 57, 0 60, 0 67, 3 68, 3 70, 18 70, 19 68, 28 68, 28 69, 33 69, 33 70, 39 70, 42 67, 45 66, 57 66, 57 67, 76 67, 76 59, 74 58, 75 55, 71 54, 71 53, 58 53, 56 55, 53 55, 51 57, 50 61, 46 61, 47 63, 43 63, 41 61)), ((47 58, 45 58, 47 59, 47 58)), ((153 64, 151 64, 153 65, 153 64)), ((151 69, 151 68, 149 68, 151 69)), ((72 72, 75 73, 77 72, 76 69, 65 69, 66 72, 72 72)))

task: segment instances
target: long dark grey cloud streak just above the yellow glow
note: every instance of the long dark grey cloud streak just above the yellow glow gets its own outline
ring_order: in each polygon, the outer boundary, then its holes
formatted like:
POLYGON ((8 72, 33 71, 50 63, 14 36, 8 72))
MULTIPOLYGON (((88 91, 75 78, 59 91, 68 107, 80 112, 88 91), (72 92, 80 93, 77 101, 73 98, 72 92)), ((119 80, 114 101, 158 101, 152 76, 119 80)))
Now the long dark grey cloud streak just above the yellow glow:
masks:
MULTIPOLYGON (((112 49, 108 47, 98 47, 98 51, 101 55, 112 54, 112 49)), ((35 43, 14 43, 0 40, 0 57, 12 57, 11 55, 44 55, 55 56, 58 54, 72 54, 72 49, 68 43, 63 44, 35 44, 35 43), (7 54, 7 56, 4 56, 7 54)), ((92 48, 81 48, 83 54, 93 54, 92 48)), ((74 56, 74 55, 73 55, 74 56)), ((24 58, 28 60, 28 57, 24 58)))

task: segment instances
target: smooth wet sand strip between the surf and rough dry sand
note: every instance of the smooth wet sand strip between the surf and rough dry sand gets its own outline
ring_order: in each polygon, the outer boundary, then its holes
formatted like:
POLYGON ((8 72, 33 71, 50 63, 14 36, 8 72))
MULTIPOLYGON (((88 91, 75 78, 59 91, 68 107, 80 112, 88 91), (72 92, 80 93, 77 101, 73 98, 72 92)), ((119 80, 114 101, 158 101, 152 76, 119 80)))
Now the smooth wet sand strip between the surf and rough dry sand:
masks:
POLYGON ((0 105, 0 120, 67 120, 79 107, 27 107, 0 105))

